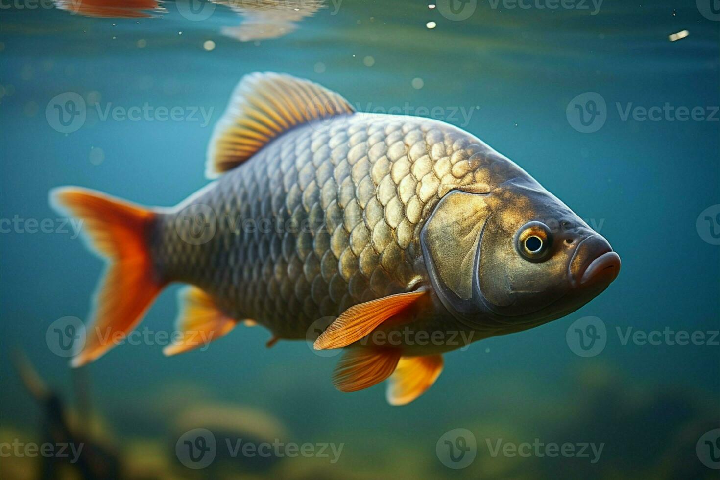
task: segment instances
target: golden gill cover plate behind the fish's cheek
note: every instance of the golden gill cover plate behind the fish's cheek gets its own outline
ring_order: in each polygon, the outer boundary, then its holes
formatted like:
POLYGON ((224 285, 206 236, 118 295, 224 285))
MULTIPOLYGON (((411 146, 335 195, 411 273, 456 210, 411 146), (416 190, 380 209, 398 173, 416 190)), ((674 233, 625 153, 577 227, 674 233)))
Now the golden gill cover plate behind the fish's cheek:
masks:
POLYGON ((433 288, 446 309, 468 320, 484 303, 477 272, 480 238, 490 213, 487 195, 450 191, 420 232, 433 288))

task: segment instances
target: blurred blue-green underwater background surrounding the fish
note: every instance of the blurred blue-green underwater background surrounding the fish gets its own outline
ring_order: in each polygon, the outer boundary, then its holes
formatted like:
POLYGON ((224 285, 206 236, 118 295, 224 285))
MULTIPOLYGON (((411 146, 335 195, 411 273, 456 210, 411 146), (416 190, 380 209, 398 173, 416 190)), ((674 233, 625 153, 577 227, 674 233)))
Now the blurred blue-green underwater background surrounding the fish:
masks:
MULTIPOLYGON (((47 476, 7 445, 60 442, 57 405, 20 380, 32 364, 125 478, 717 479, 720 13, 711 0, 598 1, 138 1, 148 17, 99 18, 3 0, 0 476, 47 476), (405 407, 384 385, 336 391, 335 352, 268 349, 260 327, 173 358, 151 335, 71 370, 53 325, 86 319, 104 266, 48 191, 179 203, 208 183, 212 127, 253 71, 472 132, 610 241, 618 279, 568 317, 445 355, 405 407), (196 427, 217 442, 202 468, 176 448, 196 427), (240 438, 316 454, 233 456, 240 438)), ((179 288, 140 330, 173 329, 179 288)))

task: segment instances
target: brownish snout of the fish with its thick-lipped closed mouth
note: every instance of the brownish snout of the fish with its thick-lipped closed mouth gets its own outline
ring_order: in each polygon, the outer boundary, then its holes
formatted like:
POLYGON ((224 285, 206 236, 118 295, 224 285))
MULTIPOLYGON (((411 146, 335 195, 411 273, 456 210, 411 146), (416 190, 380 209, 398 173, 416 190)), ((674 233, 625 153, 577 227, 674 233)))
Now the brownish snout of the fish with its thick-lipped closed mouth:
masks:
POLYGON ((620 255, 601 235, 593 234, 577 245, 570 260, 568 276, 572 288, 608 285, 620 272, 620 255))

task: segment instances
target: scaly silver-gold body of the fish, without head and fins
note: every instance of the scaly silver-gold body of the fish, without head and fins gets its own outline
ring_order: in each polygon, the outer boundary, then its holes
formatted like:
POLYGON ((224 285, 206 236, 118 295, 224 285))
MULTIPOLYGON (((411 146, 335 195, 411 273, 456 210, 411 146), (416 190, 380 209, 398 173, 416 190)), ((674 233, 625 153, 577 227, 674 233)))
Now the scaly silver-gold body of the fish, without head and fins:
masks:
POLYGON ((356 113, 295 127, 160 217, 156 271, 204 289, 230 317, 304 338, 321 317, 425 278, 423 220, 444 193, 486 176, 476 170, 487 149, 472 140, 417 117, 356 113), (202 205, 215 235, 187 243, 192 223, 178 217, 202 205))

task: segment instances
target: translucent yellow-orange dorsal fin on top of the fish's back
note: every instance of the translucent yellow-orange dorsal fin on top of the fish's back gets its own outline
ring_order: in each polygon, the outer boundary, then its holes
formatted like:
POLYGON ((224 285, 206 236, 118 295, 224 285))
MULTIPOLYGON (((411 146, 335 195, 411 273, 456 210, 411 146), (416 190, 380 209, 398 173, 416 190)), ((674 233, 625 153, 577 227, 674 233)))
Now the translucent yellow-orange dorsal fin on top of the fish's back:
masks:
POLYGON ((244 76, 215 125, 205 173, 214 178, 243 163, 275 137, 313 119, 355 109, 334 91, 272 72, 244 76))

